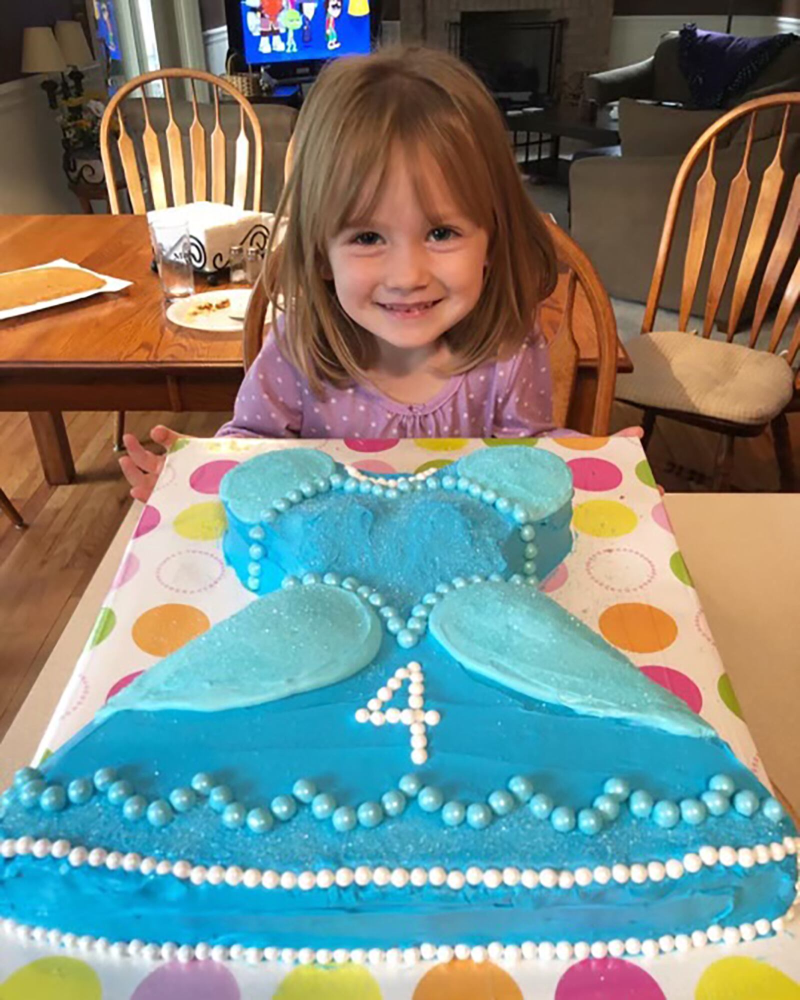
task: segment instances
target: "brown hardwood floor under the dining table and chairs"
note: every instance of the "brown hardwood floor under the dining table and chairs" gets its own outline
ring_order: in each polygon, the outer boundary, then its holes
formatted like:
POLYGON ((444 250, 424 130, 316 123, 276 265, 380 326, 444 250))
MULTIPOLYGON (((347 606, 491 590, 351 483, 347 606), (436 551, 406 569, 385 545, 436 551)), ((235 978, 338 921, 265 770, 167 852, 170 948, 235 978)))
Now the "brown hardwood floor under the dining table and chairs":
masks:
MULTIPOLYGON (((0 414, 0 485, 29 527, 17 531, 0 515, 0 739, 36 680, 131 503, 111 447, 112 416, 67 414, 77 480, 50 487, 41 473, 28 418, 0 414)), ((146 436, 156 423, 208 436, 221 414, 138 413, 128 428, 146 436)), ((639 423, 638 411, 618 406, 613 429, 639 423)), ((800 468, 800 414, 791 421, 800 468)), ((672 492, 707 490, 717 438, 662 421, 649 448, 656 479, 672 492)), ((733 489, 776 490, 768 437, 737 443, 733 489)))

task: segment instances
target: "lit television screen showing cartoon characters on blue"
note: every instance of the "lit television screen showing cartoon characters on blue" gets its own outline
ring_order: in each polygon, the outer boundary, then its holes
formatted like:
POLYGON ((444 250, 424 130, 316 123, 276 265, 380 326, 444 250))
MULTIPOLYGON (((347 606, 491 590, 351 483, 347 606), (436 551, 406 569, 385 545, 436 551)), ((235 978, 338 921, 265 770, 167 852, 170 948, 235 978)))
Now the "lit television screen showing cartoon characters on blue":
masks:
POLYGON ((375 0, 239 0, 250 64, 327 60, 370 51, 375 0))

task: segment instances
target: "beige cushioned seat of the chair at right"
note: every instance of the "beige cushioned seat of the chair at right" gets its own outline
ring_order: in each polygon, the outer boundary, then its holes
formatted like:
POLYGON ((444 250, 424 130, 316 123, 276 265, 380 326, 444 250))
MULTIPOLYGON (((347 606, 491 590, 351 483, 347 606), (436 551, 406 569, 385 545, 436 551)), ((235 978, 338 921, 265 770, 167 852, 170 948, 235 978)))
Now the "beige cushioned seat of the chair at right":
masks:
POLYGON ((784 358, 688 333, 657 332, 629 341, 633 373, 617 376, 628 403, 737 424, 765 424, 792 398, 784 358))

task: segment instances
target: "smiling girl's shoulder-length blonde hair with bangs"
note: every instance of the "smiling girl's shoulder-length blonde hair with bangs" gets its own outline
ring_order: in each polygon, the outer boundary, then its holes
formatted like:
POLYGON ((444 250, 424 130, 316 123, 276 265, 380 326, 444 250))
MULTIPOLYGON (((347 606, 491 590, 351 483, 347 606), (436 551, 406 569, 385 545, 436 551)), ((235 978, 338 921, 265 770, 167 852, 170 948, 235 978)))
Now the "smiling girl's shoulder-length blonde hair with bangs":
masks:
POLYGON ((491 95, 464 63, 425 48, 345 57, 321 72, 292 137, 291 164, 262 276, 283 310, 281 350, 319 393, 357 381, 374 337, 343 311, 327 259, 329 241, 369 218, 398 147, 435 223, 422 156, 431 156, 459 209, 489 236, 486 276, 472 312, 447 331, 453 373, 512 354, 537 305, 555 287, 552 240, 525 193, 510 137, 491 95))

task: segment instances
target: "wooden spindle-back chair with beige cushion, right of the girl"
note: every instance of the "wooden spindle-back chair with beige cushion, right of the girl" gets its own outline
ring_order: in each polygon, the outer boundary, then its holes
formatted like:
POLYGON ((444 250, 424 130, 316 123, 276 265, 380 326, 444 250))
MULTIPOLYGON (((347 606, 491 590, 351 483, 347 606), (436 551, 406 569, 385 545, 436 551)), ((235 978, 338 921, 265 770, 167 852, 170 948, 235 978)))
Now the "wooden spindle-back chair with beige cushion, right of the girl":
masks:
MULTIPOLYGON (((767 124, 772 124, 771 119, 767 119, 767 124)), ((623 376, 618 383, 618 397, 644 409, 645 443, 659 415, 722 433, 714 475, 715 487, 727 482, 734 439, 758 435, 770 424, 781 485, 784 489, 794 488, 786 413, 800 409, 800 375, 794 371, 796 362, 800 360, 800 320, 788 344, 784 341, 789 334, 792 314, 800 302, 800 175, 787 166, 788 154, 794 152, 796 156, 797 147, 800 146, 798 125, 800 93, 772 94, 748 101, 723 115, 700 136, 688 152, 678 171, 667 206, 642 322, 642 334, 645 336, 627 345, 634 367, 638 370, 633 375, 623 376), (764 122, 767 114, 775 117, 777 135, 772 136, 775 153, 756 189, 751 177, 751 152, 757 126, 759 122, 764 122), (715 174, 716 154, 721 135, 737 126, 746 129, 742 162, 729 185, 724 214, 717 230, 716 245, 712 246, 709 233, 712 230, 712 217, 720 186, 715 174), (670 254, 675 250, 679 210, 684 198, 690 194, 690 182, 703 166, 703 157, 705 166, 694 183, 677 332, 688 331, 694 314, 699 316, 702 312, 703 322, 700 336, 691 338, 691 343, 688 338, 681 343, 675 340, 674 333, 654 333, 653 328, 670 254), (749 224, 744 225, 748 203, 754 203, 754 207, 749 224), (713 257, 709 256, 711 254, 713 257), (737 259, 738 263, 734 266, 737 259), (695 299, 704 262, 710 263, 710 278, 705 303, 698 303, 698 306, 702 306, 698 310, 695 308, 695 299), (752 419, 744 419, 747 411, 743 411, 739 419, 731 416, 732 412, 735 414, 736 406, 727 406, 721 402, 719 391, 722 388, 724 393, 724 386, 713 384, 714 366, 720 361, 724 362, 726 357, 731 357, 729 352, 727 355, 720 354, 720 347, 723 345, 710 341, 727 289, 731 292, 728 316, 727 321, 720 324, 724 326, 727 344, 734 351, 763 347, 763 350, 754 351, 749 357, 742 354, 735 356, 740 380, 732 381, 730 385, 731 393, 740 395, 740 402, 742 389, 747 389, 748 380, 751 388, 756 381, 763 386, 763 406, 749 411, 753 414, 752 419), (748 305, 752 305, 751 319, 748 305), (771 335, 767 339, 761 334, 771 308, 774 318, 771 335), (747 332, 745 320, 749 324, 746 348, 744 344, 733 343, 737 334, 747 332), (680 352, 681 364, 688 366, 683 371, 689 371, 694 366, 694 370, 701 373, 699 378, 703 377, 703 369, 711 373, 706 378, 712 380, 708 382, 707 388, 715 394, 713 402, 704 400, 704 386, 698 382, 697 385, 692 385, 691 392, 687 394, 687 399, 691 399, 692 403, 685 410, 680 406, 665 405, 665 401, 675 398, 675 373, 678 371, 676 350, 680 352), (764 353, 774 357, 774 361, 767 361, 764 353), (673 379, 673 389, 665 394, 669 379, 673 379)), ((726 153, 730 153, 730 149, 726 153)))

